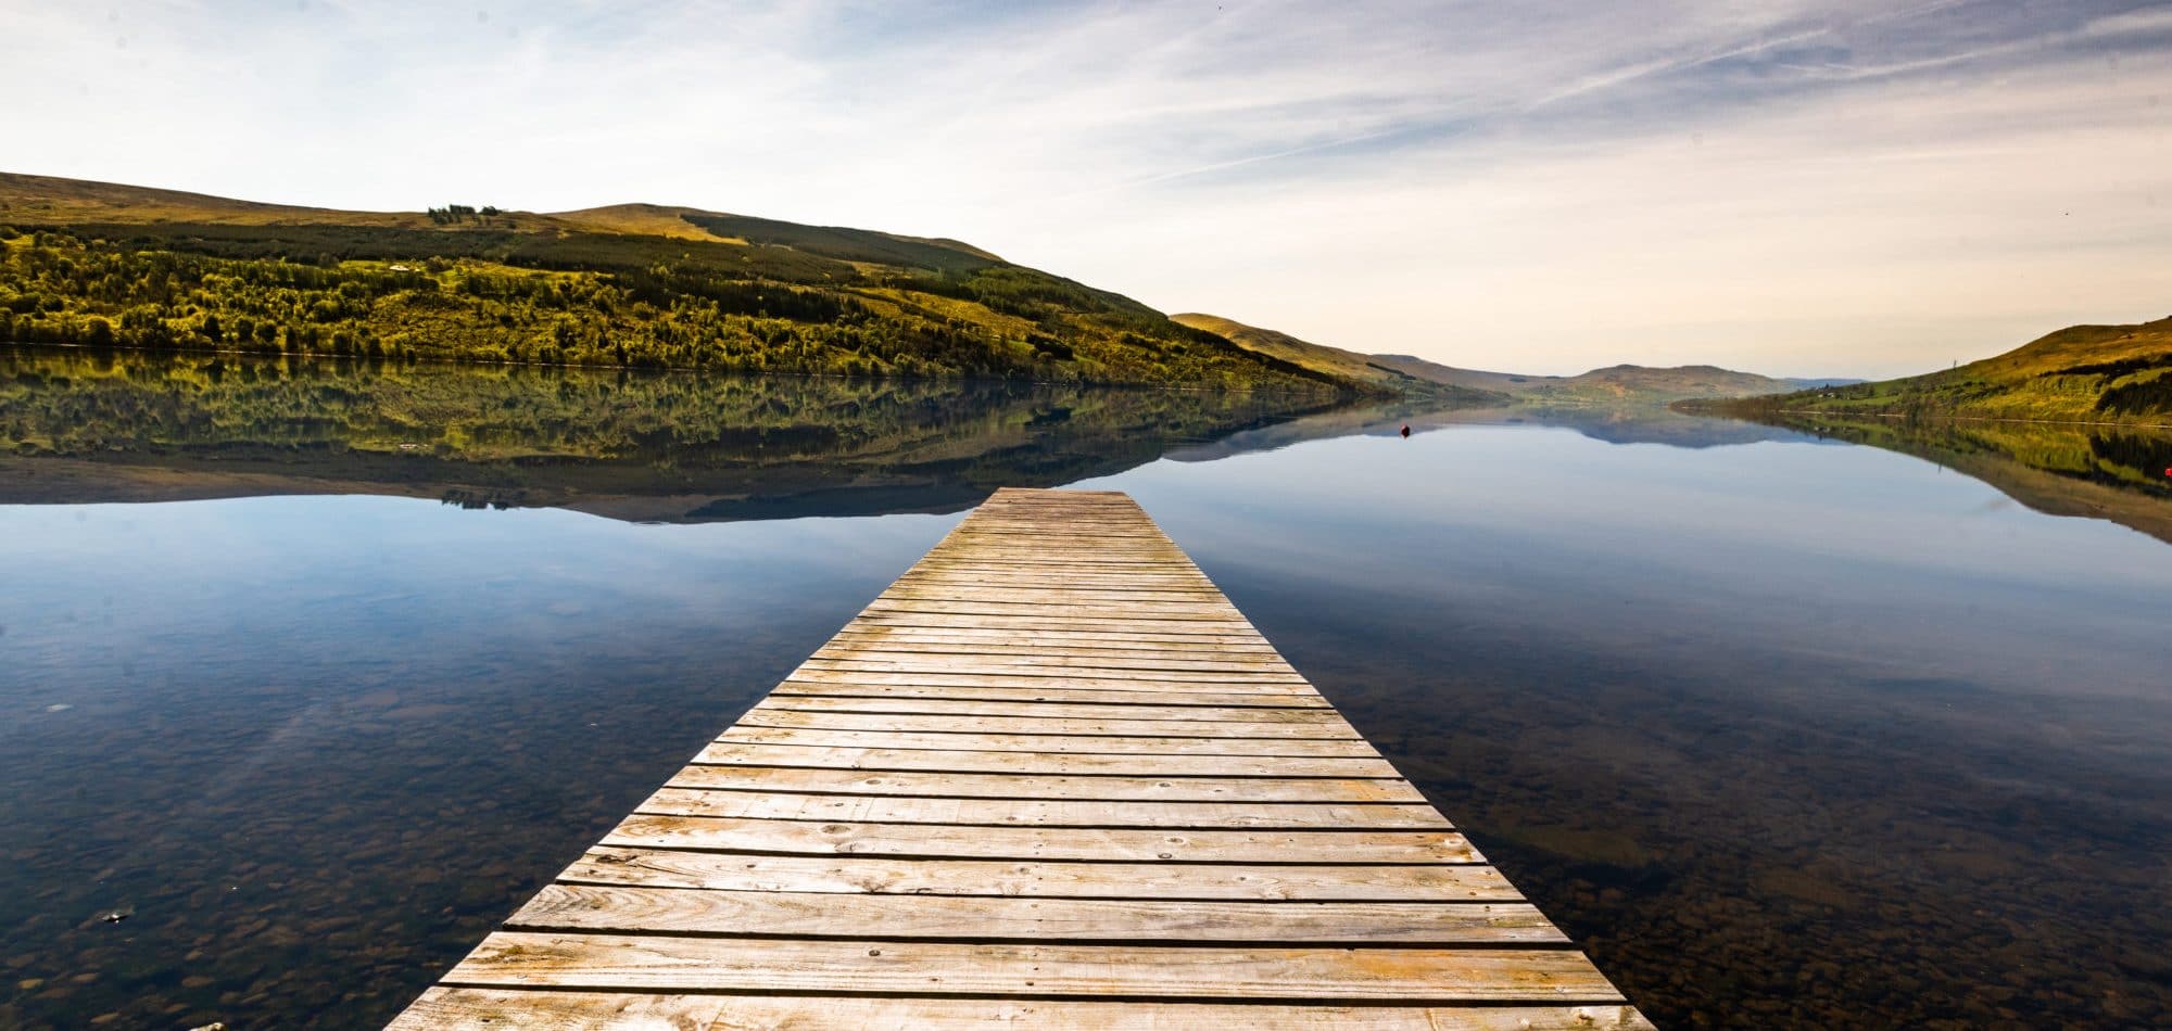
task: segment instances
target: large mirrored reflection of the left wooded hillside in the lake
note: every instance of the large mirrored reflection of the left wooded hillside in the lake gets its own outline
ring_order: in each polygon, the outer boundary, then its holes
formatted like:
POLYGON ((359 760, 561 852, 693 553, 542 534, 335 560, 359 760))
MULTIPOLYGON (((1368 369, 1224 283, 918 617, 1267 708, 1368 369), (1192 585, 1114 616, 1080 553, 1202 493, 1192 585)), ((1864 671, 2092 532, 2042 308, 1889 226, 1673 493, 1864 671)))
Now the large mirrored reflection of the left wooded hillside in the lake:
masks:
POLYGON ((951 510, 1314 408, 1212 391, 0 352, 0 501, 387 493, 621 519, 951 510))

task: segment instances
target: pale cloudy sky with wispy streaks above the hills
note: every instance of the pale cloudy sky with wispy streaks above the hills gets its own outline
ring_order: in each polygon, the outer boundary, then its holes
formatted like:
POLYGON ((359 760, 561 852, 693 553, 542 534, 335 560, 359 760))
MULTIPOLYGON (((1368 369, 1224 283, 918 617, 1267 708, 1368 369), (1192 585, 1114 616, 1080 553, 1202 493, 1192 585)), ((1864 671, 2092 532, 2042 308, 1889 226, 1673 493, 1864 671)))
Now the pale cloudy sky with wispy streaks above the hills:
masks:
POLYGON ((0 169, 945 234, 1470 367, 1942 367, 2172 313, 2172 7, 48 4, 0 169))

